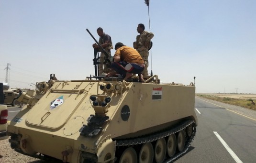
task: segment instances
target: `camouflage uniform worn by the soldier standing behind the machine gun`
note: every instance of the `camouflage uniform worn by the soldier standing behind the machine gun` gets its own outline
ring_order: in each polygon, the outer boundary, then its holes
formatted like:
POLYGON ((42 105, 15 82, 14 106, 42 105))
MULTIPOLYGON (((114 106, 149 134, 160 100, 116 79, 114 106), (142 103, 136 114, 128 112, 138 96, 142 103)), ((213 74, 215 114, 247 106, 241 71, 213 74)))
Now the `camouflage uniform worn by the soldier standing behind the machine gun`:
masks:
MULTIPOLYGON (((100 45, 109 42, 108 46, 104 47, 105 51, 109 54, 109 60, 112 62, 112 56, 111 56, 111 49, 113 49, 111 37, 108 34, 103 33, 103 36, 100 37, 99 43, 100 45)), ((100 51, 100 49, 99 49, 100 51)), ((105 62, 104 60, 105 54, 103 52, 100 53, 100 59, 99 59, 99 75, 102 75, 103 73, 109 73, 110 72, 110 65, 103 64, 105 62)))

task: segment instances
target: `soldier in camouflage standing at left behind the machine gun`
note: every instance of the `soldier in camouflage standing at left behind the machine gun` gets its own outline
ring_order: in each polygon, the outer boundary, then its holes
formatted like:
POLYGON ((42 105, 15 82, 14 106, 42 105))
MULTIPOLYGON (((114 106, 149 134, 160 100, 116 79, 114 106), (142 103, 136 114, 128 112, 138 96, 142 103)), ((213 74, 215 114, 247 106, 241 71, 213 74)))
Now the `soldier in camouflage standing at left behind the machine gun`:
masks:
MULTIPOLYGON (((109 54, 109 60, 112 61, 111 56, 111 49, 113 49, 112 41, 110 35, 103 32, 103 29, 99 27, 97 29, 97 33, 100 36, 99 43, 103 49, 109 54)), ((100 51, 100 47, 97 45, 97 43, 94 43, 92 47, 100 51)), ((105 76, 108 72, 110 72, 110 65, 104 64, 104 57, 105 54, 103 52, 100 53, 100 59, 99 59, 99 76, 105 76)))

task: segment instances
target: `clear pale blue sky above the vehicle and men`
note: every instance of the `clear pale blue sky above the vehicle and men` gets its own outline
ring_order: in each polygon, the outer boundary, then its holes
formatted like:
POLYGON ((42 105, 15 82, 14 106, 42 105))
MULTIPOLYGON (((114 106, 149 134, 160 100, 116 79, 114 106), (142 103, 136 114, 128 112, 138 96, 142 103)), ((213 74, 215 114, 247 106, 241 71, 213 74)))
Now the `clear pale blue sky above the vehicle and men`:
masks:
MULTIPOLYGON (((256 0, 0 0, 0 81, 10 87, 94 75, 93 39, 133 46, 138 23, 155 34, 149 56, 161 83, 196 93, 256 93, 256 0)), ((114 54, 114 50, 111 53, 114 54)), ((32 86, 30 86, 32 85, 32 86)))

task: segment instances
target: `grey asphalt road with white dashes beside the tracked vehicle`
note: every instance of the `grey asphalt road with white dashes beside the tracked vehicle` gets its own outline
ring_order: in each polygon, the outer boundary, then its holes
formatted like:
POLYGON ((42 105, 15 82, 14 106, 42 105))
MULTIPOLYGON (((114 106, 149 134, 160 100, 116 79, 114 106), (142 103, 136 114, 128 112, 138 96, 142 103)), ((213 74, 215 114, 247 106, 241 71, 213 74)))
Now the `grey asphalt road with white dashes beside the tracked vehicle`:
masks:
MULTIPOLYGON (((198 127, 189 152, 175 163, 255 163, 256 120, 196 98, 198 127)), ((8 120, 20 108, 8 107, 8 120)))

